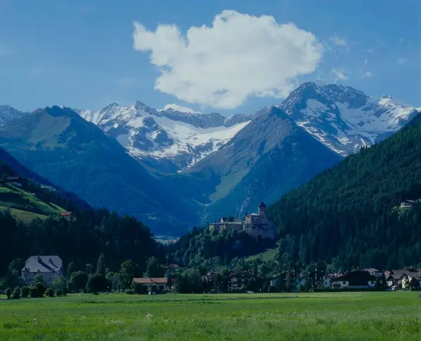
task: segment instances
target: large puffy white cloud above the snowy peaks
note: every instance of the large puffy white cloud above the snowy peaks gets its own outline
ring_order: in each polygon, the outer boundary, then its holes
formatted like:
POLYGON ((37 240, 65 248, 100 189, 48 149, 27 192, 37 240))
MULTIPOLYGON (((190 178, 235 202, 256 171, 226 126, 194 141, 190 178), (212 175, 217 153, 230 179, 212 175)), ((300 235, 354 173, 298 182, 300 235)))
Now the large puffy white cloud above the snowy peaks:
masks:
POLYGON ((134 25, 133 47, 151 51, 161 72, 155 88, 189 103, 232 109, 249 95, 284 98, 321 61, 314 34, 269 15, 222 11, 212 27, 190 27, 185 36, 175 25, 134 25))

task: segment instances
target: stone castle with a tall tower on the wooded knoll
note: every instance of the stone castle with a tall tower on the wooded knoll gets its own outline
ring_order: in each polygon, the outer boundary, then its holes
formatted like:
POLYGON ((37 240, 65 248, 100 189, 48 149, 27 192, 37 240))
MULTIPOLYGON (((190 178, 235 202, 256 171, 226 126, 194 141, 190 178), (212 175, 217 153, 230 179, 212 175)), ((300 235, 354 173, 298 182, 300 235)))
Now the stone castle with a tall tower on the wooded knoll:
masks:
POLYGON ((262 201, 258 208, 258 213, 251 213, 246 215, 246 218, 241 222, 239 219, 229 220, 227 217, 222 217, 219 222, 209 224, 211 230, 218 232, 225 229, 236 229, 237 231, 244 231, 253 238, 275 238, 276 229, 266 215, 266 205, 262 201))

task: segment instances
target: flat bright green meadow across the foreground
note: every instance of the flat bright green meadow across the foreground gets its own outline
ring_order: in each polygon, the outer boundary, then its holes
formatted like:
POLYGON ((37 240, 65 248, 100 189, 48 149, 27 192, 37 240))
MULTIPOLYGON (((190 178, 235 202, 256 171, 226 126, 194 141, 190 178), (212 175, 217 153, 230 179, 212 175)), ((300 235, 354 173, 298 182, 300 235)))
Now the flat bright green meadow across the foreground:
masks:
POLYGON ((421 340, 418 293, 0 300, 0 340, 421 340))

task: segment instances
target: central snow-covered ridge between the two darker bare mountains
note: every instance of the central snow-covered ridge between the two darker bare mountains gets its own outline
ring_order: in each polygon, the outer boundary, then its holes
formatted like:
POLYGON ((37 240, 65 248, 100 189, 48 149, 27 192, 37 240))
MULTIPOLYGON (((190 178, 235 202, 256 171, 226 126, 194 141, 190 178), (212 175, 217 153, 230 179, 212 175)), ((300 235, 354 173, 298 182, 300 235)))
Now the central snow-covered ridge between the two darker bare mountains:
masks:
MULTIPOLYGON (((218 113, 156 110, 136 101, 130 107, 112 103, 99 111, 75 109, 84 119, 116 138, 128 153, 154 163, 173 163, 181 170, 203 159, 246 126, 256 114, 226 118, 218 113)), ((159 168, 159 167, 158 167, 159 168)))

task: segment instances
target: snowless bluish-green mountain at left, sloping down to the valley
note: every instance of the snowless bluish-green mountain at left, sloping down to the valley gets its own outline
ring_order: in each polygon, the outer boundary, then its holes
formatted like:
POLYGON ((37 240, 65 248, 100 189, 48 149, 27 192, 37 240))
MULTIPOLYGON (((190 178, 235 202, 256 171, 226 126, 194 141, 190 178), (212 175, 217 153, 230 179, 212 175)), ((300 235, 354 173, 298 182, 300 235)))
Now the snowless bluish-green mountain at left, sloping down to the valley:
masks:
POLYGON ((185 231, 194 210, 71 109, 47 107, 0 126, 0 145, 20 163, 93 207, 135 215, 156 232, 185 231), (180 218, 181 216, 181 218, 180 218))

